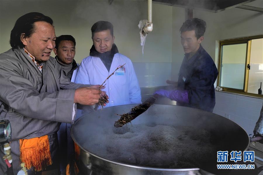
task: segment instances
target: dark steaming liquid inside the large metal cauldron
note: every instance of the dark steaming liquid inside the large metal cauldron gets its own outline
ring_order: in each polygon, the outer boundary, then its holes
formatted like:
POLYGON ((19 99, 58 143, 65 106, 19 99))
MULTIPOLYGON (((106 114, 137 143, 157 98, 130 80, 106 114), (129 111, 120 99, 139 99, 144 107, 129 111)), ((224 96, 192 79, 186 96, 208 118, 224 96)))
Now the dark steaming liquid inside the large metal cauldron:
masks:
POLYGON ((205 129, 170 125, 105 128, 85 148, 115 162, 155 168, 203 168, 216 161, 217 146, 205 129))

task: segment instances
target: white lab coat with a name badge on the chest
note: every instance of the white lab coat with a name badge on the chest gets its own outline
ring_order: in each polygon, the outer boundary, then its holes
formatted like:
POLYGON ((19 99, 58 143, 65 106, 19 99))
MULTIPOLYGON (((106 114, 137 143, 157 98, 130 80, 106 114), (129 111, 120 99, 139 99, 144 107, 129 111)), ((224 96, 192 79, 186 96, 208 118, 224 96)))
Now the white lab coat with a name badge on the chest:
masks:
POLYGON ((132 62, 120 53, 114 55, 110 72, 99 57, 88 56, 84 58, 77 71, 75 83, 101 85, 117 67, 123 64, 125 64, 124 75, 114 74, 105 82, 103 91, 106 91, 109 96, 109 103, 105 107, 140 104, 141 89, 132 62))

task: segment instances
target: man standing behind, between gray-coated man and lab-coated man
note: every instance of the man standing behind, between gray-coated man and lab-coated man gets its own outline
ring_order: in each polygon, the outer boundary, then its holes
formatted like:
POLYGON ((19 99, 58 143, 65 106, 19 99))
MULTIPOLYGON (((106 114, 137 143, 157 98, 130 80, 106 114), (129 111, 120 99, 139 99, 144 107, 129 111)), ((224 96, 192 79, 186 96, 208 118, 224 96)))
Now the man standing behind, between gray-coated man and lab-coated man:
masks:
POLYGON ((78 68, 74 60, 76 53, 75 38, 71 35, 60 35, 55 42, 56 46, 53 51, 56 55, 56 61, 60 64, 64 75, 71 81, 73 72, 78 68))

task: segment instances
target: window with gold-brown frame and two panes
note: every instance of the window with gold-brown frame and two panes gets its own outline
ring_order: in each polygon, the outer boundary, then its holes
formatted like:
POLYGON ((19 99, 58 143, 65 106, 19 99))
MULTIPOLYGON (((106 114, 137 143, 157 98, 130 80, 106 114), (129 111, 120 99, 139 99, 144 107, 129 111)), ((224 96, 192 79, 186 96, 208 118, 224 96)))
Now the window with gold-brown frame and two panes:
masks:
POLYGON ((263 97, 263 35, 224 40, 219 46, 217 86, 223 91, 263 97))

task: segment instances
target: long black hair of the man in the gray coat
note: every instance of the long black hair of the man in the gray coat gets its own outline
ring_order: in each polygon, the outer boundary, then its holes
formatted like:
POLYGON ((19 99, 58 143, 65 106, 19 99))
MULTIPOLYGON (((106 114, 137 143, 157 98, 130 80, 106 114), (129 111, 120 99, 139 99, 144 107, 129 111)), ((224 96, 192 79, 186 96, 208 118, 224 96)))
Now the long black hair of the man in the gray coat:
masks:
POLYGON ((35 30, 34 22, 37 21, 45 21, 53 25, 53 20, 50 17, 43 15, 42 13, 30 12, 21 16, 20 18, 18 18, 18 20, 16 20, 15 26, 10 34, 9 42, 12 48, 18 48, 18 46, 20 48, 24 47, 23 43, 20 40, 20 36, 23 33, 27 37, 31 36, 35 30))

